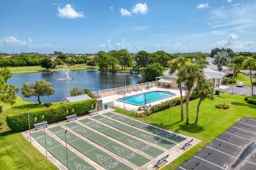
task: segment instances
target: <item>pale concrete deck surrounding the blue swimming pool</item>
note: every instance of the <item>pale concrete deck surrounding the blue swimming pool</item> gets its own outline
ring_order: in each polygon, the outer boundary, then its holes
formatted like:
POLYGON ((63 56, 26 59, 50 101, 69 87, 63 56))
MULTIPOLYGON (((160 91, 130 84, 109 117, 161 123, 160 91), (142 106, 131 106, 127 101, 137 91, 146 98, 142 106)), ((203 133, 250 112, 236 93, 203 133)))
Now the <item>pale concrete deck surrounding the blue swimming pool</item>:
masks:
MULTIPOLYGON (((174 99, 176 97, 180 97, 179 88, 163 88, 163 87, 159 87, 159 86, 158 87, 153 87, 153 88, 150 88, 150 89, 147 89, 147 90, 142 89, 141 91, 132 91, 130 94, 126 93, 126 97, 133 96, 133 95, 138 95, 138 94, 143 94, 145 92, 150 92, 150 91, 168 91, 168 92, 172 92, 173 94, 175 94, 175 96, 167 97, 167 98, 160 99, 160 100, 153 101, 153 102, 149 103, 152 106, 157 105, 157 104, 161 104, 163 101, 166 101, 166 100, 170 100, 170 99, 174 99)), ((185 95, 185 91, 182 91, 182 95, 185 95)), ((124 103, 122 101, 117 101, 117 99, 122 98, 122 97, 123 97, 123 95, 111 95, 111 96, 102 97, 102 100, 103 100, 103 103, 106 103, 105 101, 108 101, 108 102, 109 101, 114 101, 115 106, 124 108, 124 103)), ((147 104, 147 105, 149 105, 149 104, 147 104)), ((125 103, 125 108, 127 108, 127 109, 138 109, 138 107, 140 107, 140 106, 125 103)))

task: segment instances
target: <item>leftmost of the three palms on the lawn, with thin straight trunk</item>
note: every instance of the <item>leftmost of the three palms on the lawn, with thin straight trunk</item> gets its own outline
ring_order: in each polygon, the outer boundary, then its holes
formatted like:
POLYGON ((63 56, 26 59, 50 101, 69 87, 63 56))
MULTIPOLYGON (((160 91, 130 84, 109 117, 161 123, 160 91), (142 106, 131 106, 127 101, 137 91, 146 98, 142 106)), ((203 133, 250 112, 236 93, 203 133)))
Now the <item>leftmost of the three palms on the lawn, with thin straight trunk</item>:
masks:
MULTIPOLYGON (((175 58, 174 60, 168 62, 169 64, 169 74, 173 74, 177 71, 179 71, 181 69, 182 66, 184 66, 186 63, 186 58, 175 58)), ((182 82, 181 81, 177 81, 176 82, 179 84, 179 88, 180 88, 180 120, 183 121, 184 120, 184 116, 183 116, 183 96, 182 96, 182 87, 181 87, 181 84, 182 82)))

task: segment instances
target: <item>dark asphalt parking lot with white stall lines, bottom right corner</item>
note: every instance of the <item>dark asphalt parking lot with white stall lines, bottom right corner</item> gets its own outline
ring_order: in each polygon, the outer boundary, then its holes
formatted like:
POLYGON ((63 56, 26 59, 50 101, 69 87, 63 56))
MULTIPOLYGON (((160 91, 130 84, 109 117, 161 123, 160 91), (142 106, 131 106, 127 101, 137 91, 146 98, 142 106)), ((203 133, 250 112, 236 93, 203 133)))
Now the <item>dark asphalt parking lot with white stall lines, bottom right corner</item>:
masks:
POLYGON ((177 169, 256 169, 256 120, 243 118, 177 169))

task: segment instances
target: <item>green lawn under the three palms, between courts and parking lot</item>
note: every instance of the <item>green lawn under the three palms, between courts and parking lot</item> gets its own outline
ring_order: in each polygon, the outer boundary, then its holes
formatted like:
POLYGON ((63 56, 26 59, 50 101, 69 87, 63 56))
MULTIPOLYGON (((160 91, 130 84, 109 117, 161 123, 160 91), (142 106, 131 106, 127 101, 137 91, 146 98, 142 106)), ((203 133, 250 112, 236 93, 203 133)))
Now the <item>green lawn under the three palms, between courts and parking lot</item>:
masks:
MULTIPOLYGON (((187 160, 196 154, 196 152, 217 138, 218 135, 223 133, 225 130, 230 128, 240 118, 256 118, 256 106, 246 103, 243 96, 221 94, 220 96, 215 96, 215 100, 213 101, 203 101, 200 107, 199 122, 198 124, 195 124, 194 121, 196 116, 197 102, 198 99, 190 101, 189 103, 189 126, 186 126, 185 122, 180 122, 180 106, 171 108, 171 130, 200 139, 202 142, 193 149, 185 152, 185 154, 179 158, 175 159, 174 162, 166 167, 166 169, 174 169, 182 164, 184 160, 187 160), (214 107, 215 104, 223 104, 224 102, 230 106, 230 109, 225 110, 214 107)), ((118 112, 122 113, 123 111, 122 109, 119 109, 118 112)), ((131 113, 127 113, 126 115, 131 116, 131 113)), ((138 119, 142 121, 144 120, 144 118, 138 119)), ((150 115, 145 118, 145 121, 168 129, 169 109, 150 115)))

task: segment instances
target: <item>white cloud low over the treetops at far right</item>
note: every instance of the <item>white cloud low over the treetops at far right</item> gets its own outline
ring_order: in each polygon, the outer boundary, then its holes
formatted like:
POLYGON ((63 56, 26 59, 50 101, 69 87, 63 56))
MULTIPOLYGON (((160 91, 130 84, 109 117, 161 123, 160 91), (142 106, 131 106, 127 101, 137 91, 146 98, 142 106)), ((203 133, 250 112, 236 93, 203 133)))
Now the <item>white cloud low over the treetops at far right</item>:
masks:
POLYGON ((234 48, 239 50, 246 50, 246 49, 252 49, 255 45, 254 41, 238 41, 237 40, 238 35, 235 33, 231 33, 228 36, 227 40, 219 40, 216 41, 216 43, 213 44, 215 47, 225 47, 225 48, 234 48))

